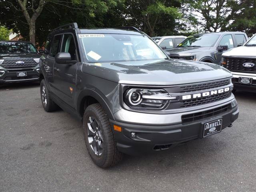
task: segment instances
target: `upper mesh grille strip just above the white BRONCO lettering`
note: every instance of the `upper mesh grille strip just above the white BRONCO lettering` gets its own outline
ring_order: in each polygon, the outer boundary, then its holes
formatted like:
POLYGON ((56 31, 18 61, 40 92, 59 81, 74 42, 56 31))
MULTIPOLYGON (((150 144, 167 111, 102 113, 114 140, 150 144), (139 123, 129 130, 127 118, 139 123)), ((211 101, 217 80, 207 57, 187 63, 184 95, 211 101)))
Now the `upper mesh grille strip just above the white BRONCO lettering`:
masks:
POLYGON ((212 89, 216 87, 221 87, 230 84, 230 79, 225 80, 217 80, 212 82, 206 82, 206 83, 200 83, 200 84, 190 84, 186 86, 181 86, 181 93, 184 92, 192 92, 192 91, 200 91, 200 90, 206 90, 206 89, 212 89))

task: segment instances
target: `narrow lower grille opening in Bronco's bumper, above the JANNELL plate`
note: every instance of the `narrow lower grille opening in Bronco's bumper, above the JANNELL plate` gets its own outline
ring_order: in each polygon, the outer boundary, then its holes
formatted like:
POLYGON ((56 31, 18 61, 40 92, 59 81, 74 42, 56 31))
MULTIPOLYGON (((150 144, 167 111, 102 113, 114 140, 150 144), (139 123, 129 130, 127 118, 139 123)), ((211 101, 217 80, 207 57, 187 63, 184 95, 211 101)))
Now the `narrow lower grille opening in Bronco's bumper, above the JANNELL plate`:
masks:
POLYGON ((222 115, 226 111, 228 111, 229 108, 230 108, 230 104, 224 105, 224 106, 221 106, 218 108, 206 110, 203 112, 182 115, 182 117, 181 117, 182 123, 187 123, 187 122, 192 122, 192 121, 196 121, 196 120, 202 120, 204 118, 209 118, 212 116, 222 115))

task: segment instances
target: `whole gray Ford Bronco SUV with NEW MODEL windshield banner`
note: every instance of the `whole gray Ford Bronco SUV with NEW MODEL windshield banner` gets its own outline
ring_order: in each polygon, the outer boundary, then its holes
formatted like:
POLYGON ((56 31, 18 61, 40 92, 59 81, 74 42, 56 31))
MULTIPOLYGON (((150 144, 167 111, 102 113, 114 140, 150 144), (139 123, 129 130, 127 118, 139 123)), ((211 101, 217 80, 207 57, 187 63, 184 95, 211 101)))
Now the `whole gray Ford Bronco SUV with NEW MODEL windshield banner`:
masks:
POLYGON ((44 109, 83 122, 95 164, 204 138, 238 118, 232 74, 216 64, 172 60, 149 36, 122 29, 54 29, 40 59, 44 109))

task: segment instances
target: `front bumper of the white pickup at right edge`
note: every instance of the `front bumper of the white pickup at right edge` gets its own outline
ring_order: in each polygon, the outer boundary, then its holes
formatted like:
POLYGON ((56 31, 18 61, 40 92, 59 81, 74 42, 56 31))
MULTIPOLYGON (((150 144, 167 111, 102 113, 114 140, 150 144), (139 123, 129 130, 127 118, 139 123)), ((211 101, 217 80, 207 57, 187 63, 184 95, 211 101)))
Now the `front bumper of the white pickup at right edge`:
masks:
POLYGON ((256 92, 256 74, 238 73, 238 72, 232 72, 232 74, 233 74, 232 83, 234 84, 234 89, 249 91, 249 92, 256 92), (248 84, 239 83, 239 77, 252 78, 252 84, 248 85, 248 84))

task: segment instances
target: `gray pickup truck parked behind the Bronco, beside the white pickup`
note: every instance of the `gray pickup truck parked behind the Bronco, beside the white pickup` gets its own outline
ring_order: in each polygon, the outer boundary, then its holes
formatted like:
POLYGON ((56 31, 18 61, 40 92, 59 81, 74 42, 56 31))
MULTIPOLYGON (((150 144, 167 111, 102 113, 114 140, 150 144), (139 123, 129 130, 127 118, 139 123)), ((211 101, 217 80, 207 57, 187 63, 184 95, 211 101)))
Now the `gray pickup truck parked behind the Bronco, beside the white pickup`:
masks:
POLYGON ((170 58, 220 64, 222 53, 242 46, 248 37, 244 32, 194 34, 176 48, 165 50, 170 58))

